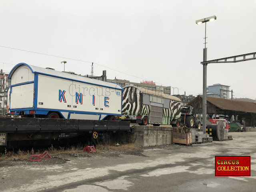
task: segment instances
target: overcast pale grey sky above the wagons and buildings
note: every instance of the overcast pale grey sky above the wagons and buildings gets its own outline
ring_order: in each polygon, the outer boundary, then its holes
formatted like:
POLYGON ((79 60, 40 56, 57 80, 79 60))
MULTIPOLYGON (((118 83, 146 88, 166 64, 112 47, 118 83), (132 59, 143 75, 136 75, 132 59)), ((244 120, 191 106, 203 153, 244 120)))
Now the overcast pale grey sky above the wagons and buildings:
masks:
MULTIPOLYGON (((107 70, 108 78, 202 94, 205 25, 195 21, 213 15, 208 60, 256 52, 256 0, 0 0, 0 46, 88 61, 0 47, 0 68, 25 62, 63 70, 66 60, 66 71, 90 74, 94 62, 94 75, 107 70)), ((255 99, 255 74, 256 60, 208 64, 207 85, 255 99)))

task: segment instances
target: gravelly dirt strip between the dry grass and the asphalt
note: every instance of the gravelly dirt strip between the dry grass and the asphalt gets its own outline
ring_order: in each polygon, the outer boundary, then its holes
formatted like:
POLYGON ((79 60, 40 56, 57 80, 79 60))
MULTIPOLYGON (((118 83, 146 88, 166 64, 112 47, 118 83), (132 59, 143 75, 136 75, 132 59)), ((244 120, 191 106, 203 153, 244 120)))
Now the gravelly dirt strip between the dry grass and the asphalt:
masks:
MULTIPOLYGON (((137 147, 137 146, 135 146, 137 147)), ((160 146, 148 146, 148 147, 142 147, 140 146, 140 150, 134 149, 134 150, 124 150, 124 151, 118 151, 118 150, 103 150, 100 152, 92 152, 92 153, 86 153, 86 152, 77 152, 72 154, 60 154, 56 156, 52 156, 52 159, 43 159, 40 162, 32 162, 29 159, 28 160, 17 160, 16 158, 12 160, 3 160, 0 161, 0 167, 4 166, 14 166, 14 165, 22 165, 22 164, 42 164, 42 165, 53 165, 53 164, 64 164, 67 161, 70 161, 71 158, 78 158, 78 157, 88 157, 88 158, 97 158, 97 157, 117 157, 122 158, 120 155, 135 155, 135 156, 143 156, 148 157, 142 154, 144 149, 165 149, 165 150, 178 150, 180 148, 184 147, 192 147, 192 146, 185 146, 185 145, 176 145, 176 144, 166 144, 166 145, 160 145, 160 146)))

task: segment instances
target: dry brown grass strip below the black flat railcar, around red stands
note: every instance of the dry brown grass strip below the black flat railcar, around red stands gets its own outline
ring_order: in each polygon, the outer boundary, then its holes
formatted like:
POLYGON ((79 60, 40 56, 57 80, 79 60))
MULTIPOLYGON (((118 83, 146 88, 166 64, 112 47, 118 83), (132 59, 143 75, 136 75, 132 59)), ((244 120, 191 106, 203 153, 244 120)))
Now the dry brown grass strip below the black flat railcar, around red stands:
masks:
MULTIPOLYGON (((54 146, 51 146, 48 148, 49 154, 52 156, 60 155, 60 154, 72 154, 72 153, 78 153, 83 152, 84 146, 72 146, 70 148, 64 148, 59 147, 55 148, 54 146)), ((120 144, 117 146, 116 144, 112 144, 111 142, 106 142, 105 144, 98 144, 96 147, 96 152, 103 152, 103 151, 124 151, 124 150, 134 150, 134 149, 140 149, 139 146, 134 146, 134 144, 120 144)), ((0 154, 0 161, 10 161, 13 159, 16 160, 29 160, 30 155, 33 154, 42 154, 42 151, 40 152, 34 152, 34 149, 32 148, 30 151, 21 151, 18 150, 18 152, 14 151, 7 151, 5 150, 4 154, 0 154)))

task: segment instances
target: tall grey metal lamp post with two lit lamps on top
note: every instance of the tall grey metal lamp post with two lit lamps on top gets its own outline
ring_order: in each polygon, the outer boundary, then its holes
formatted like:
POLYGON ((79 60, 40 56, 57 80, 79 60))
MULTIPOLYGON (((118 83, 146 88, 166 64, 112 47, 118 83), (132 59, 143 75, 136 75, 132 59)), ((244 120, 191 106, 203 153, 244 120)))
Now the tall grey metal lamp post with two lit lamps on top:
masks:
MULTIPOLYGON (((203 61, 207 61, 207 48, 206 48, 206 22, 214 21, 217 17, 211 16, 196 20, 196 24, 205 23, 205 36, 204 36, 204 50, 203 50, 203 61)), ((207 99, 206 99, 206 86, 207 86, 207 63, 203 64, 203 132, 206 132, 206 115, 207 115, 207 99)))

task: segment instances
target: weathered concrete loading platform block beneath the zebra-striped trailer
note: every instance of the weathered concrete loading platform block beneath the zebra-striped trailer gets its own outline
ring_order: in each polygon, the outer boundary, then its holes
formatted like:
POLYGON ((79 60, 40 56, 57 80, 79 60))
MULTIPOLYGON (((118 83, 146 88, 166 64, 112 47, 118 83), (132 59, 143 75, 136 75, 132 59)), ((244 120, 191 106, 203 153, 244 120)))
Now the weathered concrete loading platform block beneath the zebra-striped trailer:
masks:
POLYGON ((131 142, 141 146, 172 144, 172 126, 138 126, 134 127, 131 142))

